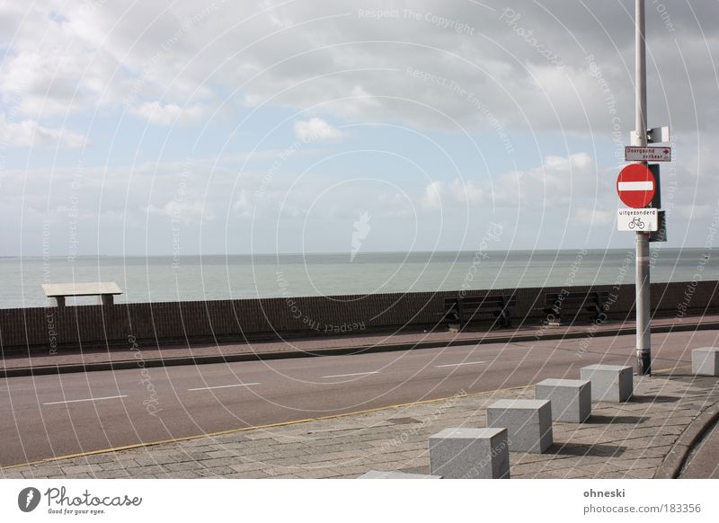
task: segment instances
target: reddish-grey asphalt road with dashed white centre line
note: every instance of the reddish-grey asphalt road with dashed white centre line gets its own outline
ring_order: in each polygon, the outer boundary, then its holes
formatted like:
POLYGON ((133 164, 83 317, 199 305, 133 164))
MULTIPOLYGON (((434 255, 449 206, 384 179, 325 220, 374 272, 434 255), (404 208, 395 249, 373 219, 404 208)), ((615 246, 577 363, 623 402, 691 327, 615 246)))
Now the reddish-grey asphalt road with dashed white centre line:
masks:
MULTIPOLYGON (((716 331, 654 334, 655 369, 716 331)), ((496 343, 0 380, 0 465, 579 377, 634 364, 634 336, 496 343)), ((688 369, 687 369, 688 371, 688 369)))

